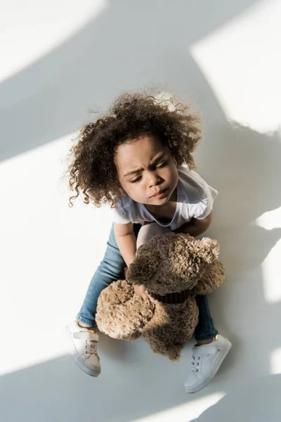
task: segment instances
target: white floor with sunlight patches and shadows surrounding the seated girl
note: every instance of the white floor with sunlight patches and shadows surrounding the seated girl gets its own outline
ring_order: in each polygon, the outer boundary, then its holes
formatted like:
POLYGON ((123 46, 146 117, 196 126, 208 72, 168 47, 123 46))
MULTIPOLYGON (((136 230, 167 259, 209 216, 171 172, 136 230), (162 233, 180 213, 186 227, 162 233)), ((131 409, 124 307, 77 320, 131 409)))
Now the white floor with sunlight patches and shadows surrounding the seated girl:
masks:
POLYGON ((280 421, 281 2, 89 1, 81 11, 68 1, 68 14, 11 4, 1 22, 11 47, 0 76, 1 420, 280 421), (219 191, 207 235, 228 275, 209 300, 233 349, 196 395, 183 388, 192 343, 172 363, 141 339, 102 335, 91 378, 63 337, 111 225, 108 207, 67 206, 71 139, 89 108, 147 82, 195 101, 197 171, 219 191))

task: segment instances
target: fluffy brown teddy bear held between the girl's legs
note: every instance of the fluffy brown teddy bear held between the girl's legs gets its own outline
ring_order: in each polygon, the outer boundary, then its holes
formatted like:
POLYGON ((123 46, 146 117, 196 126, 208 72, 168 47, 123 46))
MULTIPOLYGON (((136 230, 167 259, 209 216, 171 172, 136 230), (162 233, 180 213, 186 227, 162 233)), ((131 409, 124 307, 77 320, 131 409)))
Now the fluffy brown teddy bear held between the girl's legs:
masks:
POLYGON ((172 231, 145 241, 126 270, 126 280, 111 283, 100 294, 98 328, 124 340, 142 335, 154 352, 180 359, 198 322, 195 296, 207 295, 223 282, 218 252, 211 238, 197 240, 172 231), (134 284, 147 288, 148 300, 134 293, 134 284))

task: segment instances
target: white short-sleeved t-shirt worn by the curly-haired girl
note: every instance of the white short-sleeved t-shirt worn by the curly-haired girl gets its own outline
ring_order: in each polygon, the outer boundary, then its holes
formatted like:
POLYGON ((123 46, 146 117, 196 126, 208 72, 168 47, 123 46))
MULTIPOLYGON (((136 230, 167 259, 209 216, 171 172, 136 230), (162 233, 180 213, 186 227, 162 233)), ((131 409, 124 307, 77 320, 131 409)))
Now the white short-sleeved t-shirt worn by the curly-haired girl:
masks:
POLYGON ((218 191, 207 184, 199 174, 189 170, 188 165, 177 166, 178 185, 176 212, 171 222, 159 222, 147 210, 144 204, 137 203, 128 195, 122 196, 111 208, 112 221, 117 224, 157 222, 159 226, 169 227, 176 230, 184 223, 189 222, 192 217, 204 219, 208 217, 213 209, 214 199, 218 191))

